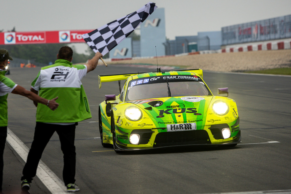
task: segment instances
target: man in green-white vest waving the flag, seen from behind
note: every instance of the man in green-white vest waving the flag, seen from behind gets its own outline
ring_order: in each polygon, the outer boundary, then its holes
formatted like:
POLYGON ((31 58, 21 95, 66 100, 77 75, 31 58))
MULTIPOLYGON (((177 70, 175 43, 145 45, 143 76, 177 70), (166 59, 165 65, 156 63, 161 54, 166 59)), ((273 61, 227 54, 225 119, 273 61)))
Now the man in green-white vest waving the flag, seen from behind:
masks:
POLYGON ((33 142, 22 171, 22 191, 29 191, 42 152, 55 131, 63 152, 63 180, 67 192, 80 190, 75 184, 75 129, 78 122, 92 118, 81 79, 96 68, 101 57, 102 54, 97 52, 85 65, 73 65, 73 50, 68 46, 61 47, 55 63, 42 67, 31 83, 30 90, 43 98, 58 94, 62 106, 54 113, 47 111, 42 104, 37 107, 33 142))

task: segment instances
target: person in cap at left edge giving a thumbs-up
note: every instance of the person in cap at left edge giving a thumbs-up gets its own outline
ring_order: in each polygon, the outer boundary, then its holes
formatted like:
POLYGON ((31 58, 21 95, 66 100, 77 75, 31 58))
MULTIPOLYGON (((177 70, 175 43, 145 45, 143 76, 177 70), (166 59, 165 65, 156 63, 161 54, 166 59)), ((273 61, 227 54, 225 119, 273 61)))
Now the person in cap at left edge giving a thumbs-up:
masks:
MULTIPOLYGON (((38 102, 48 106, 51 110, 58 108, 58 103, 55 97, 51 100, 42 98, 35 93, 26 90, 22 86, 17 85, 8 77, 5 77, 7 70, 8 60, 13 60, 6 49, 0 49, 0 193, 2 192, 2 180, 3 180, 3 152, 5 148, 5 142, 7 137, 7 125, 8 125, 8 107, 7 97, 8 93, 19 94, 25 96, 34 102, 38 102)), ((49 108, 47 108, 49 110, 49 108)))

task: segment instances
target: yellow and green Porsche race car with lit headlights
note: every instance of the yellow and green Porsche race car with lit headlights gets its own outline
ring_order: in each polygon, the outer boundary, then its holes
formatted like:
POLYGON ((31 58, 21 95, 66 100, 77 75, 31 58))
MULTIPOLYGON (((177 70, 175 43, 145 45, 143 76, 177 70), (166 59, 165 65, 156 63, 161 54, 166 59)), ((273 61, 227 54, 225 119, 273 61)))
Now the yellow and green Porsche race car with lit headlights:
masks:
POLYGON ((241 142, 239 116, 228 88, 214 96, 201 69, 102 75, 118 81, 119 95, 99 105, 103 147, 115 152, 173 146, 227 145, 241 142), (121 87, 120 81, 125 80, 121 87), (223 96, 222 96, 223 95, 223 96))

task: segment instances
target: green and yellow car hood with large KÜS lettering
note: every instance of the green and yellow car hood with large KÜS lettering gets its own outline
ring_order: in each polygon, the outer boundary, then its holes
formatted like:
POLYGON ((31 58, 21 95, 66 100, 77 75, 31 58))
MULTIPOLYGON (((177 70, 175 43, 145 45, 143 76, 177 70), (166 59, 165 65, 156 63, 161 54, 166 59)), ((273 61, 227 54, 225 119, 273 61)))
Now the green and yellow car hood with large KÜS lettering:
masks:
MULTIPOLYGON (((205 124, 207 110, 213 96, 165 97, 129 101, 143 110, 157 127, 165 124, 205 124)), ((145 116, 145 115, 144 115, 145 116)))

